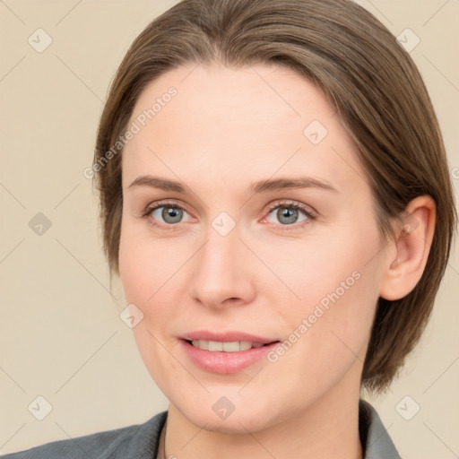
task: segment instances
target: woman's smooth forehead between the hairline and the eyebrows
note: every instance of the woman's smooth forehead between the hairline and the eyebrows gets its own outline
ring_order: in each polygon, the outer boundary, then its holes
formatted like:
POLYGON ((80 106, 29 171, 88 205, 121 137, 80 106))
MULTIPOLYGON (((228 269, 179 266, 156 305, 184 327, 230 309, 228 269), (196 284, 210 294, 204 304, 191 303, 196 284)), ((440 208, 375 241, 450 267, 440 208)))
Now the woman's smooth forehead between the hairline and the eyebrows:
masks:
POLYGON ((283 66, 178 67, 144 89, 133 123, 138 132, 123 153, 124 186, 152 172, 202 182, 205 171, 220 183, 301 173, 338 188, 365 186, 333 106, 283 66))

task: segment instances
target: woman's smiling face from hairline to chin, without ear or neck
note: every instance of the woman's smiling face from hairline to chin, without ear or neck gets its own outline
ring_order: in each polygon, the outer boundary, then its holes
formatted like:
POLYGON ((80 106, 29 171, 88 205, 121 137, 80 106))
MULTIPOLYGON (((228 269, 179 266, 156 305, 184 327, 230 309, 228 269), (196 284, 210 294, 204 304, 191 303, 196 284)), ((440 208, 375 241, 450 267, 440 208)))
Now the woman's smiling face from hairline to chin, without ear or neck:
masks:
POLYGON ((170 403, 244 432, 357 397, 386 250, 324 95, 277 65, 189 65, 130 127, 120 277, 170 403))

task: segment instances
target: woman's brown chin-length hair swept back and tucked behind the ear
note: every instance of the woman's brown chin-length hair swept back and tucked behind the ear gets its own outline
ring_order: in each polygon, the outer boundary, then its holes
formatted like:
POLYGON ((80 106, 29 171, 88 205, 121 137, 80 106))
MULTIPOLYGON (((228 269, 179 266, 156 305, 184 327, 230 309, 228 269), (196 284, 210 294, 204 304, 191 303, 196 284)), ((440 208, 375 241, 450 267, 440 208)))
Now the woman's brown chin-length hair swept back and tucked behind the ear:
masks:
POLYGON ((378 300, 361 382, 384 390, 427 324, 457 212, 437 117, 416 65, 383 24, 350 0, 183 0, 134 39, 112 82, 94 157, 110 274, 119 273, 123 205, 117 138, 147 84, 180 65, 215 62, 286 65, 324 91, 368 173, 381 240, 394 237, 391 220, 416 196, 437 204, 420 281, 403 299, 378 300))

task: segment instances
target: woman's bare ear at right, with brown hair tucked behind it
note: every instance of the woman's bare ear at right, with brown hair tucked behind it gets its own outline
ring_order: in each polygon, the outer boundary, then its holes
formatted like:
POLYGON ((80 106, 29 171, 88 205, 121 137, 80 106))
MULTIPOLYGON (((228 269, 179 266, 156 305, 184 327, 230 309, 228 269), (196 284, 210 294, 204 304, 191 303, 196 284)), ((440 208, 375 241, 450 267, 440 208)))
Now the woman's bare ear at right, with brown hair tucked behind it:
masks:
POLYGON ((402 299, 416 287, 424 272, 434 237, 437 208, 429 195, 413 199, 395 228, 394 250, 387 251, 379 296, 402 299))

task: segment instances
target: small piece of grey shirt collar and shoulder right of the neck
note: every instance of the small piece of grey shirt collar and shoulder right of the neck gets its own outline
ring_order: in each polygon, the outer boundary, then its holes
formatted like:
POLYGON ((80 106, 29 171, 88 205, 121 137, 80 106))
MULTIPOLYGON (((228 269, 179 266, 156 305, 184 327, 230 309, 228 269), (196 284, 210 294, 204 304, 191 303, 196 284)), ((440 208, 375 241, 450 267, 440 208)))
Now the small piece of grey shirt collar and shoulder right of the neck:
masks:
POLYGON ((402 459, 373 406, 359 400, 359 434, 365 459, 402 459))

